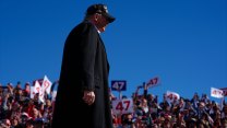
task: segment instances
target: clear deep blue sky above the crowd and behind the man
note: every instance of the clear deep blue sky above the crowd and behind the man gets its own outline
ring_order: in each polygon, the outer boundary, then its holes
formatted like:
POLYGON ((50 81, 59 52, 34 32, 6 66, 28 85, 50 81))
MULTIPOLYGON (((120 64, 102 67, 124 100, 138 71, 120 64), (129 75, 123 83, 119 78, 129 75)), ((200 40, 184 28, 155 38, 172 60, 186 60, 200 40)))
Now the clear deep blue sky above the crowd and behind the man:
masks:
POLYGON ((1 0, 0 83, 57 80, 67 35, 100 2, 117 18, 101 37, 109 83, 127 80, 124 95, 154 77, 162 83, 148 93, 159 96, 227 88, 226 0, 1 0))

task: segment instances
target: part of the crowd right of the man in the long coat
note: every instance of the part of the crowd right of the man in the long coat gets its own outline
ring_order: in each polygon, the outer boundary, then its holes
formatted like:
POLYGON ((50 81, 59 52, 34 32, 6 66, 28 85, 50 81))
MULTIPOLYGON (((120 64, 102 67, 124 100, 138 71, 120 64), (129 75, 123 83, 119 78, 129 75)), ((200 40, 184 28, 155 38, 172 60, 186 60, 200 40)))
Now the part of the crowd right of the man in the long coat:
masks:
MULTIPOLYGON (((144 92, 132 95, 133 113, 113 115, 116 128, 227 128, 227 104, 211 101, 206 94, 169 100, 144 92)), ((123 97, 127 98, 127 97, 123 97)), ((115 98, 113 98, 115 100, 115 98)))

